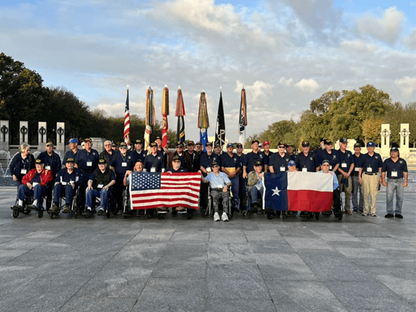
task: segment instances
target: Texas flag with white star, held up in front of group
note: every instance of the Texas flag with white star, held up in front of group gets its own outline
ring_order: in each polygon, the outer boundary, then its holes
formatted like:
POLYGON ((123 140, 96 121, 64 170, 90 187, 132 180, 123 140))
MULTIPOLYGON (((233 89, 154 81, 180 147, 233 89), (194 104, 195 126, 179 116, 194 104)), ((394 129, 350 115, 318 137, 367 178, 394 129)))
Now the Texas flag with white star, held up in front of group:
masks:
POLYGON ((273 210, 322 212, 331 209, 331 173, 266 173, 266 208, 273 210))

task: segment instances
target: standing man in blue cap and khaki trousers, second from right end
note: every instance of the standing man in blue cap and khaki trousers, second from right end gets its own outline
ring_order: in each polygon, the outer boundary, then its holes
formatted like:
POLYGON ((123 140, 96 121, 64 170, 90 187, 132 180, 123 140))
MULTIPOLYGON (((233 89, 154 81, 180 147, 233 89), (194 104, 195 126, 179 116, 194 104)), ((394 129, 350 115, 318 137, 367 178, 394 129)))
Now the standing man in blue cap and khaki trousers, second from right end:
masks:
POLYGON ((379 193, 379 184, 381 184, 381 167, 383 161, 378 153, 374 153, 376 144, 373 141, 367 143, 368 153, 363 155, 363 167, 360 168, 360 184, 363 185, 364 211, 363 216, 376 217, 376 198, 379 193), (369 205, 368 196, 371 196, 371 206, 369 205))

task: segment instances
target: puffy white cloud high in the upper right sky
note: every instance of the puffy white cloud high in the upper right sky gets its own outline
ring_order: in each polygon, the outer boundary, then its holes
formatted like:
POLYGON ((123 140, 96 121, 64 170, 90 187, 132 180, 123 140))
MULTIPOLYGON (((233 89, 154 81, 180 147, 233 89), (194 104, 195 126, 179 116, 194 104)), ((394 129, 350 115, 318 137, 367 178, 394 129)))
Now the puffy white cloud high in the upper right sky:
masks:
POLYGON ((383 17, 367 14, 357 20, 357 28, 361 33, 370 35, 378 40, 394 44, 401 34, 401 28, 406 21, 404 13, 397 7, 385 9, 383 17))

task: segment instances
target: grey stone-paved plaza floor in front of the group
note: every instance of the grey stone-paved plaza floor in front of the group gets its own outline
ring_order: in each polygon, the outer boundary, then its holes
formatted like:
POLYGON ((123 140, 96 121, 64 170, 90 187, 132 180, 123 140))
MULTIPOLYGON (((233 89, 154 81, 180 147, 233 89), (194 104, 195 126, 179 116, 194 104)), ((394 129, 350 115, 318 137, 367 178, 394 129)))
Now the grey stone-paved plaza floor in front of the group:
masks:
POLYGON ((416 185, 404 219, 228 223, 12 218, 0 187, 0 311, 416 311, 416 185))

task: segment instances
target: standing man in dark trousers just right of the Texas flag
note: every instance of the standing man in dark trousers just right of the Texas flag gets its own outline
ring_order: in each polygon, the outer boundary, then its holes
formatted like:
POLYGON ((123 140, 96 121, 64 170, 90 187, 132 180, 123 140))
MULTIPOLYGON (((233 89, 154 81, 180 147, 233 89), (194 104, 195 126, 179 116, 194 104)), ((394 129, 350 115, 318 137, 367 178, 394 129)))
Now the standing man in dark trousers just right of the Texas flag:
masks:
MULTIPOLYGON (((352 153, 347 150, 348 140, 340 139, 340 149, 338 150, 338 159, 340 166, 338 167, 337 177, 340 193, 345 193, 345 214, 352 214, 350 210, 350 197, 352 193, 351 173, 354 171, 354 159, 352 153)), ((340 196, 342 200, 342 196, 340 196)))

